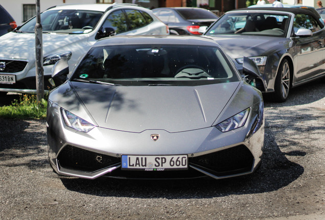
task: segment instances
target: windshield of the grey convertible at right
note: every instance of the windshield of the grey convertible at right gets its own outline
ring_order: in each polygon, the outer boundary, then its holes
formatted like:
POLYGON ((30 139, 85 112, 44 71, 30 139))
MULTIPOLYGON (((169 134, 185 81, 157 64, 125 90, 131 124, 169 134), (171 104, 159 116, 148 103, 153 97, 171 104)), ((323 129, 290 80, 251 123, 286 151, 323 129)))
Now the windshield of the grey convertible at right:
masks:
POLYGON ((277 13, 243 12, 222 16, 205 35, 242 34, 286 36, 289 16, 277 13))

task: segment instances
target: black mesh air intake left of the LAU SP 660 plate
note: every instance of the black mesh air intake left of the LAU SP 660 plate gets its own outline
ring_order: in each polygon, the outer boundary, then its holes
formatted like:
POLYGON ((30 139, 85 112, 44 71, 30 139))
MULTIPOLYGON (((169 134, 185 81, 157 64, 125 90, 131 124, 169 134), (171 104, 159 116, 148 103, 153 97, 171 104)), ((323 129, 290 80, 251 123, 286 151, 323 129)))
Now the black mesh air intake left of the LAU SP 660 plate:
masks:
POLYGON ((95 172, 121 162, 121 158, 68 145, 60 152, 58 161, 60 166, 66 169, 95 172))

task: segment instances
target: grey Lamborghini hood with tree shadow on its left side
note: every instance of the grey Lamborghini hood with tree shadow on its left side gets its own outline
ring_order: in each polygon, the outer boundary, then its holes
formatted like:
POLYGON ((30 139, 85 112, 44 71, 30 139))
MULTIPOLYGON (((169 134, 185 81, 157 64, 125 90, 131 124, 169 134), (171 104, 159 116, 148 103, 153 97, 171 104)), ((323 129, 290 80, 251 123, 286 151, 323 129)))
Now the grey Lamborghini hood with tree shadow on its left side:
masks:
POLYGON ((88 122, 129 132, 180 132, 212 126, 240 82, 197 87, 68 85, 57 88, 58 96, 51 93, 51 100, 88 122))

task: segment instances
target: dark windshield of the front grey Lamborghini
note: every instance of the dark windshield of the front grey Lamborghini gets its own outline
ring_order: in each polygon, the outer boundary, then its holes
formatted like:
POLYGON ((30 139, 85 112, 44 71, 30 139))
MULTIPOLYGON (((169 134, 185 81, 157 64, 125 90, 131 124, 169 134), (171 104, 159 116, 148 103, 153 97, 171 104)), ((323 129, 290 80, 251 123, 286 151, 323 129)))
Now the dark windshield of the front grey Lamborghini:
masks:
POLYGON ((218 47, 127 45, 92 48, 72 81, 193 86, 239 81, 218 47))

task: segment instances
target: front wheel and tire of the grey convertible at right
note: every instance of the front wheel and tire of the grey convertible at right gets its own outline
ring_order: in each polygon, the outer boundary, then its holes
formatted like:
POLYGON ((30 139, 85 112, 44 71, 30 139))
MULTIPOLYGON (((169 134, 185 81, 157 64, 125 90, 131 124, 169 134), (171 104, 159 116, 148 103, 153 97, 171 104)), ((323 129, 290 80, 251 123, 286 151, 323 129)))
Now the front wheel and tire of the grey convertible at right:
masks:
POLYGON ((274 101, 285 102, 287 100, 290 90, 290 73, 289 62, 287 59, 284 59, 278 68, 275 78, 273 94, 274 101))

